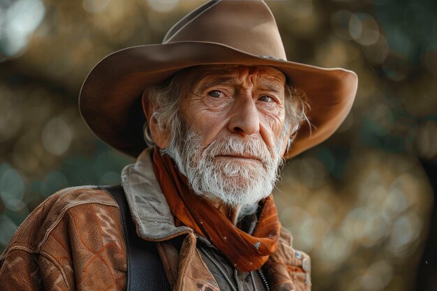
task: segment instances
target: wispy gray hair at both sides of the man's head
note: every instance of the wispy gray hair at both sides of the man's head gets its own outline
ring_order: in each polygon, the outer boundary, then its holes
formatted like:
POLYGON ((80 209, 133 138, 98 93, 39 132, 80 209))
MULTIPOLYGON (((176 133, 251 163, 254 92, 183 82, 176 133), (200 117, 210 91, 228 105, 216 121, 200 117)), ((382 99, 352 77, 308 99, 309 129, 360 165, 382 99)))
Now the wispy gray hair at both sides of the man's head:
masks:
MULTIPOLYGON (((179 71, 162 84, 149 89, 148 92, 149 103, 155 107, 151 118, 156 119, 159 129, 168 130, 170 133, 170 144, 175 144, 177 139, 179 139, 179 133, 182 132, 179 104, 184 92, 184 73, 186 73, 186 70, 179 71)), ((285 101, 286 123, 284 124, 281 137, 284 137, 290 132, 292 129, 291 126, 294 126, 294 128, 290 134, 293 134, 299 129, 302 122, 306 121, 309 124, 309 119, 306 117, 309 105, 306 103, 306 94, 304 91, 290 84, 286 84, 285 101)), ((311 124, 309 125, 311 129, 311 124)), ((154 145, 147 121, 144 125, 144 129, 145 142, 149 146, 154 145)), ((287 151, 290 144, 291 140, 288 142, 287 151)), ((163 151, 165 152, 165 149, 163 151)))

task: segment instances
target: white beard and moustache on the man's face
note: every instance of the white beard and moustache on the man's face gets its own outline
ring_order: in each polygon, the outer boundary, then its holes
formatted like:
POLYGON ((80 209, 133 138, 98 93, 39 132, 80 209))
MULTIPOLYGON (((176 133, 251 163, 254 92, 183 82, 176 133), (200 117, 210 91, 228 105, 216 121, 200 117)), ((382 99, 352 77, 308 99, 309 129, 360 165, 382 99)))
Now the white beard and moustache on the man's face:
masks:
POLYGON ((253 210, 260 200, 272 193, 283 163, 279 146, 271 153, 258 139, 244 141, 231 135, 219 137, 204 148, 201 135, 192 129, 181 131, 186 133, 173 139, 163 154, 173 158, 194 193, 230 207, 253 210), (251 155, 262 163, 215 158, 225 155, 251 155))

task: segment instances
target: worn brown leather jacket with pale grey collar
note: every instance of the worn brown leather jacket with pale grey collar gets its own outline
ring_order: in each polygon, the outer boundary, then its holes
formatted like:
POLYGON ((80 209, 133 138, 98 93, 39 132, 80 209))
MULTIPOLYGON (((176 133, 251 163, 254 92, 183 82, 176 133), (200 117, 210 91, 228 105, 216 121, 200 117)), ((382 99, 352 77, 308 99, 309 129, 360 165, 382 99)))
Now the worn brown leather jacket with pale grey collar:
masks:
MULTIPOLYGON (((158 242, 173 290, 220 290, 193 230, 175 227, 149 151, 126 166, 121 178, 138 235, 158 242), (179 235, 184 235, 180 252, 169 242, 179 235)), ((291 248, 287 230, 281 231, 277 252, 290 267, 267 266, 270 289, 311 290, 309 257, 291 248), (284 271, 294 285, 281 282, 284 271)), ((40 204, 11 239, 0 256, 0 290, 125 290, 126 269, 117 202, 94 186, 66 188, 40 204)))

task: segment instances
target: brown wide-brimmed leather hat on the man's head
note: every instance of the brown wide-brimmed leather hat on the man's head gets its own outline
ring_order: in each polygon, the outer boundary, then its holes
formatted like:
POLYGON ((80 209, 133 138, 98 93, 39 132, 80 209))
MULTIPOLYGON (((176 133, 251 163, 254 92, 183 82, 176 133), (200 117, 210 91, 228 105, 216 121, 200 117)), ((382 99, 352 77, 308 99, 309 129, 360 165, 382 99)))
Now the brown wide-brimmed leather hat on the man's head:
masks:
POLYGON ((357 75, 350 70, 287 61, 264 1, 209 1, 177 22, 163 43, 128 47, 102 59, 82 84, 80 112, 101 140, 136 157, 147 147, 143 91, 184 68, 212 64, 272 66, 305 92, 312 134, 309 125, 302 124, 286 158, 332 135, 357 91, 357 75))

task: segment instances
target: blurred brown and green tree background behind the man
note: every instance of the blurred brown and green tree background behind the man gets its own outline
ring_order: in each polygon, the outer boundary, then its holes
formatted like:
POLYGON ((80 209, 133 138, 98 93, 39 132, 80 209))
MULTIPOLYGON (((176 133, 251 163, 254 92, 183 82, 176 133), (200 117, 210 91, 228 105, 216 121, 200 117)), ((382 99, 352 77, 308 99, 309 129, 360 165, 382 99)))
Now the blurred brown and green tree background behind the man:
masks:
MULTIPOLYGON (((55 191, 120 181, 133 161, 84 125, 82 81, 115 50, 161 43, 202 3, 0 0, 0 251, 55 191)), ((283 226, 311 255, 313 290, 437 290, 437 220, 424 171, 435 187, 435 1, 267 3, 290 61, 348 68, 360 79, 338 132, 288 161, 276 189, 283 226)))

